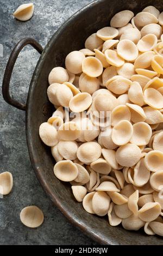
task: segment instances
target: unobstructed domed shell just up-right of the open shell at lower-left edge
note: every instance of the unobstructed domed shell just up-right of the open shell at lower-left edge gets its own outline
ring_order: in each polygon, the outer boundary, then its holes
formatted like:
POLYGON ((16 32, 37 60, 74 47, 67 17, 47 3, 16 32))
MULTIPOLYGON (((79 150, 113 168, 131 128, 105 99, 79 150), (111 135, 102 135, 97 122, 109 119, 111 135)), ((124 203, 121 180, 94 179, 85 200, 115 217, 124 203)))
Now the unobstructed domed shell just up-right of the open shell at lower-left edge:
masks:
POLYGON ((96 142, 86 142, 77 150, 77 157, 83 163, 92 163, 99 159, 102 153, 101 146, 96 142))

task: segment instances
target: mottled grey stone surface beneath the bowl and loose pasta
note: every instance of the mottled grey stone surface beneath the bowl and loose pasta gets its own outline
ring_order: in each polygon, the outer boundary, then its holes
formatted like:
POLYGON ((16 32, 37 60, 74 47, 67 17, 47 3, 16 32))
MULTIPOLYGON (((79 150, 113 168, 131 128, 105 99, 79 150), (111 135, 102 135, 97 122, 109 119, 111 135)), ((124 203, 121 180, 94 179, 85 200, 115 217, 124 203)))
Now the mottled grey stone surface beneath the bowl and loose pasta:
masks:
MULTIPOLYGON (((30 1, 29 1, 30 2, 30 1)), ((23 0, 0 0, 0 82, 9 54, 24 36, 35 38, 44 47, 53 33, 89 0, 34 0, 34 16, 27 22, 14 19, 12 13, 23 0)), ((17 59, 11 81, 11 94, 26 102, 30 78, 39 54, 27 46, 17 59)), ((4 102, 0 92, 0 173, 9 171, 14 177, 12 192, 0 198, 0 245, 93 245, 96 244, 52 204, 42 190, 31 166, 25 134, 25 113, 4 102), (37 229, 29 229, 20 221, 24 206, 37 205, 45 221, 37 229)))

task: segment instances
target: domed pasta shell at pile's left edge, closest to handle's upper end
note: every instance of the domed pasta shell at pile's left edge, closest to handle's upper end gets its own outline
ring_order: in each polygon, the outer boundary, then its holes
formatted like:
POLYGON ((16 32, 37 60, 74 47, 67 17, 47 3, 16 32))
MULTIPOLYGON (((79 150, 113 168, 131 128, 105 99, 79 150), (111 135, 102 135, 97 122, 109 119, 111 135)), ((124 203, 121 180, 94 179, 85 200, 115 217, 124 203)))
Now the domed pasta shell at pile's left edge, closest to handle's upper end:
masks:
POLYGON ((61 66, 57 66, 52 69, 48 77, 49 84, 62 84, 64 82, 68 82, 68 79, 69 77, 66 69, 62 68, 61 66))

